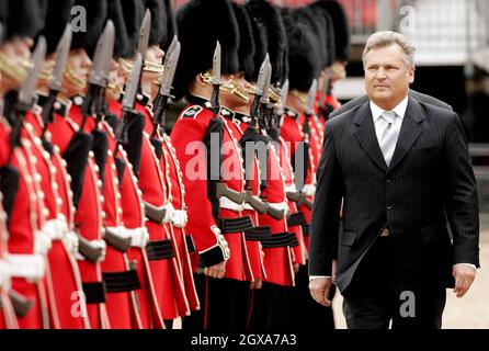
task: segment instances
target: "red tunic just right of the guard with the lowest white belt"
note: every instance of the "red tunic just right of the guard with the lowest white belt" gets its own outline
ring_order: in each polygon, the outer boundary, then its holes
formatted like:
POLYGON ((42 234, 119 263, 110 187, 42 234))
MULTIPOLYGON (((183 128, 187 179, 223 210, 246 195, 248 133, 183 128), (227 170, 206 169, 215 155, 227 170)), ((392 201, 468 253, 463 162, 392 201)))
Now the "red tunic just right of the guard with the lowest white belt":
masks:
MULTIPOLYGON (((52 328, 82 329, 89 327, 83 314, 73 314, 73 302, 84 304, 73 292, 82 290, 80 272, 75 259, 77 247, 72 245, 69 223, 72 217, 72 202, 66 168, 57 149, 52 155, 41 141, 41 116, 27 113, 24 118, 24 136, 32 143, 32 155, 36 158, 39 172, 44 206, 48 211, 43 231, 52 238, 48 252, 48 298, 52 312, 52 328)), ((49 135, 46 135, 49 137, 49 135)), ((71 222, 72 223, 72 222, 71 222)), ((84 306, 83 306, 84 308, 84 306)))

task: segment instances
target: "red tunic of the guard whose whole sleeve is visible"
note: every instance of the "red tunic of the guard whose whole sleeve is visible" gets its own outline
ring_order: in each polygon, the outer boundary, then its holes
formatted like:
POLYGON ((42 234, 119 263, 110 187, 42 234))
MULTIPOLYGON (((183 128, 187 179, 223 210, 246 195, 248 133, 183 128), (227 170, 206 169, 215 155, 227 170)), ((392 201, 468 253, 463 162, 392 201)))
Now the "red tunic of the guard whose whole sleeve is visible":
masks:
MULTIPOLYGON (((203 105, 189 105, 182 111, 171 133, 171 139, 183 170, 185 201, 189 206, 186 229, 193 235, 201 257, 208 257, 212 253, 223 261, 226 254, 219 241, 220 231, 216 229, 218 224, 213 216, 212 202, 207 197, 207 152, 203 140, 213 117, 213 112, 205 104, 208 104, 208 101, 203 102, 203 105)), ((218 117, 224 120, 221 116, 218 117)), ((244 171, 240 150, 227 124, 224 128, 223 146, 225 150, 223 152, 221 180, 229 189, 242 192, 244 189, 244 171)), ((241 217, 240 211, 220 206, 219 218, 236 219, 241 217)), ((251 268, 244 234, 242 231, 229 233, 224 237, 230 251, 230 258, 226 263, 225 278, 238 281, 249 280, 250 276, 247 275, 247 272, 250 272, 251 268)), ((216 259, 216 261, 218 260, 216 259)), ((194 260, 192 263, 194 272, 196 272, 197 261, 194 260)))

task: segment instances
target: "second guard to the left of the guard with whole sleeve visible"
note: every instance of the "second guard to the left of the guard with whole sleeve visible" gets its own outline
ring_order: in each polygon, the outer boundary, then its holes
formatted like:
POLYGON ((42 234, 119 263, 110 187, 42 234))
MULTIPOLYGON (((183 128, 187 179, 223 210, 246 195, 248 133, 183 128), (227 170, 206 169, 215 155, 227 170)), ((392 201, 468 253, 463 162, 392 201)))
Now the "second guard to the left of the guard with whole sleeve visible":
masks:
MULTIPOLYGON (((149 267, 155 282, 155 294, 157 305, 153 308, 152 325, 156 328, 163 328, 163 321, 171 326, 171 320, 179 316, 179 310, 189 310, 183 280, 179 270, 179 258, 175 256, 175 240, 169 230, 167 218, 164 217, 166 206, 169 204, 164 183, 164 169, 161 168, 161 139, 159 135, 152 135, 152 106, 149 101, 158 92, 158 80, 162 72, 162 58, 164 52, 160 44, 166 42, 166 25, 163 18, 163 3, 157 1, 146 1, 146 7, 151 15, 149 42, 144 52, 145 60, 140 82, 140 92, 136 111, 139 112, 137 125, 138 132, 127 133, 129 141, 127 145, 141 145, 139 149, 139 165, 133 154, 129 160, 133 162, 138 184, 143 191, 145 202, 145 213, 147 217, 146 227, 149 231, 149 242, 146 250, 149 267), (136 144, 135 144, 136 143, 136 144)), ((144 20, 144 26, 146 23, 144 20)), ((138 43, 139 46, 139 43, 138 43)), ((134 147, 133 147, 134 149, 134 147)))

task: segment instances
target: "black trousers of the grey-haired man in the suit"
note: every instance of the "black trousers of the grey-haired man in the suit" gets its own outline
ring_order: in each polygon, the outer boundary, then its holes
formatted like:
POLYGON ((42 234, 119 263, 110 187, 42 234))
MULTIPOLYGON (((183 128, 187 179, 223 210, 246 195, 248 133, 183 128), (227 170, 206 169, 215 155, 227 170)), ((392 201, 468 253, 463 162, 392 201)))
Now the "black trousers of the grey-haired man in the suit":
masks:
POLYGON ((349 329, 440 329, 445 287, 409 282, 393 269, 389 238, 378 238, 343 292, 349 329))

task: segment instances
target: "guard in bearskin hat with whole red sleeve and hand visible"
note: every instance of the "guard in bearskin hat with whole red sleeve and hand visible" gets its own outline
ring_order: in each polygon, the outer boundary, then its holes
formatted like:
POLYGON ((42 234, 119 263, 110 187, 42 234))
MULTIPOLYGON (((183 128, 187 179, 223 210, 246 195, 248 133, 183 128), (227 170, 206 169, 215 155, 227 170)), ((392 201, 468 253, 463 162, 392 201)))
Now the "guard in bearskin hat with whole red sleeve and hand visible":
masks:
POLYGON ((179 10, 177 22, 182 52, 174 95, 186 95, 190 105, 180 114, 171 139, 187 195, 186 229, 200 253, 193 269, 202 304, 202 312, 185 318, 183 328, 243 328, 247 272, 251 271, 243 231, 253 228, 253 223, 242 214, 246 181, 241 150, 232 137, 231 122, 218 113, 218 82, 229 83, 229 75, 239 69, 238 27, 230 3, 224 0, 190 1, 179 10), (209 18, 219 18, 219 25, 209 25, 209 18))

